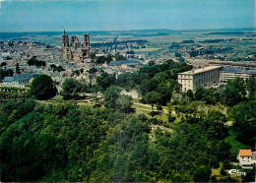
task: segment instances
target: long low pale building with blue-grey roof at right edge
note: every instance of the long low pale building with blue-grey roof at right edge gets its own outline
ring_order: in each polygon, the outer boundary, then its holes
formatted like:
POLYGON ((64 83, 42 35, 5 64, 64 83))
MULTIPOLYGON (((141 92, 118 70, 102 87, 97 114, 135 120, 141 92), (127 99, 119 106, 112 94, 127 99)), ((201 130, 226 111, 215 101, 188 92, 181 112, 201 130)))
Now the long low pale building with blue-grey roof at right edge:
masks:
POLYGON ((256 70, 237 69, 237 68, 224 68, 221 71, 220 83, 225 84, 227 80, 234 78, 241 78, 246 81, 249 78, 256 77, 256 70))

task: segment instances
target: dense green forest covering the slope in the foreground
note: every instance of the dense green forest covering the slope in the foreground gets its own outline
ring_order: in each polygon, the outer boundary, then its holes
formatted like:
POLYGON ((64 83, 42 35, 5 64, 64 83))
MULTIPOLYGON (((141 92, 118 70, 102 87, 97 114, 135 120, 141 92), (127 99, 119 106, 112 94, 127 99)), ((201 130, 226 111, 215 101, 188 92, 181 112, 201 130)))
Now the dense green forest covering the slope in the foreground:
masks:
MULTIPOLYGON (((254 107, 255 100, 232 108, 232 130, 241 142, 253 130, 241 125, 254 120, 254 107)), ((236 155, 219 111, 188 116, 172 124, 172 133, 152 132, 144 115, 78 107, 71 101, 8 101, 0 116, 1 181, 206 182, 212 167, 236 155)), ((255 123, 250 128, 255 130, 255 123)))

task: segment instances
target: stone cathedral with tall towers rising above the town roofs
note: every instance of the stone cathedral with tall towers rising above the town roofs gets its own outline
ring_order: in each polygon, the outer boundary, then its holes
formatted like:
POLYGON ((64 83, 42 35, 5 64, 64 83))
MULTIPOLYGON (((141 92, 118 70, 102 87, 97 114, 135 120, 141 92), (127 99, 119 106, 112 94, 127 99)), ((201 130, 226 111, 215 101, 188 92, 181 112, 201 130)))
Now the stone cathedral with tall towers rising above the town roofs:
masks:
POLYGON ((76 63, 91 62, 90 53, 93 52, 90 47, 89 33, 84 33, 84 44, 82 45, 76 35, 71 35, 69 44, 69 35, 65 30, 62 34, 62 55, 65 60, 73 60, 76 63))

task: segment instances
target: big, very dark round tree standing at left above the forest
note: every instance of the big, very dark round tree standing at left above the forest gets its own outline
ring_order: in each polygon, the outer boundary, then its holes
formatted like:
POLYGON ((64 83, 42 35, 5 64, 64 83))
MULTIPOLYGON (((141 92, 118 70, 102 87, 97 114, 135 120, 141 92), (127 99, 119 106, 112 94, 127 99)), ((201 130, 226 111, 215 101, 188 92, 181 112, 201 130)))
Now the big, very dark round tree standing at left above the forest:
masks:
POLYGON ((31 94, 37 99, 49 99, 55 96, 57 89, 54 82, 47 75, 39 75, 33 79, 31 85, 31 94))

